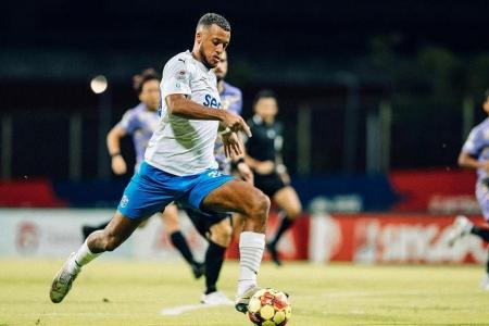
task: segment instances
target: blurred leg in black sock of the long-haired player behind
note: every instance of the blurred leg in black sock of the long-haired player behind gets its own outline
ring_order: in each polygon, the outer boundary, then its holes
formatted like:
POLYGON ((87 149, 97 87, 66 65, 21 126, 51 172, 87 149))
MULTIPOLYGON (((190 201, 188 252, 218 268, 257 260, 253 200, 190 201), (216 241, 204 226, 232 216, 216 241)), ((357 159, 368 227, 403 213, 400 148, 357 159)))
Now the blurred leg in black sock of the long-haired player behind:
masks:
POLYGON ((170 204, 163 211, 162 221, 165 226, 165 231, 168 235, 173 246, 178 250, 185 261, 190 265, 193 277, 200 278, 204 273, 204 264, 197 262, 193 254, 188 247, 187 240, 180 230, 178 222, 178 208, 176 204, 170 204))

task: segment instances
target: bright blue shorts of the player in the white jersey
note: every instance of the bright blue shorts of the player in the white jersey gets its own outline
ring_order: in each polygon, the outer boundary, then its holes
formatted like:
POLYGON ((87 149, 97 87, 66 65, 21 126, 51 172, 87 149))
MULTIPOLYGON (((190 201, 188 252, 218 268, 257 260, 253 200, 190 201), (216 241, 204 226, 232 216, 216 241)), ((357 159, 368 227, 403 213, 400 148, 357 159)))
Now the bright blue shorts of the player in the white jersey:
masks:
POLYGON ((202 200, 214 189, 234 179, 217 170, 176 176, 142 162, 124 190, 117 210, 131 220, 149 217, 173 201, 201 210, 202 200))

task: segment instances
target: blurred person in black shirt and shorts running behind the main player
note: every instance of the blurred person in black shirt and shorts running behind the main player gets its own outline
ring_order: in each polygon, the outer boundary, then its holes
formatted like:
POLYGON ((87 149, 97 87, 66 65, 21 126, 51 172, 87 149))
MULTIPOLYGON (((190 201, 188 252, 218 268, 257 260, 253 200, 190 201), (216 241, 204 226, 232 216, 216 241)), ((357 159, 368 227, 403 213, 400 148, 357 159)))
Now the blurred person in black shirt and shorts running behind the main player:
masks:
POLYGON ((302 211, 296 190, 290 186, 287 167, 281 160, 281 124, 275 121, 278 113, 277 97, 271 90, 260 91, 253 103, 254 116, 249 121, 253 138, 246 142, 247 163, 254 173, 254 185, 265 192, 281 210, 280 225, 266 243, 272 260, 281 265, 277 243, 284 233, 302 211))

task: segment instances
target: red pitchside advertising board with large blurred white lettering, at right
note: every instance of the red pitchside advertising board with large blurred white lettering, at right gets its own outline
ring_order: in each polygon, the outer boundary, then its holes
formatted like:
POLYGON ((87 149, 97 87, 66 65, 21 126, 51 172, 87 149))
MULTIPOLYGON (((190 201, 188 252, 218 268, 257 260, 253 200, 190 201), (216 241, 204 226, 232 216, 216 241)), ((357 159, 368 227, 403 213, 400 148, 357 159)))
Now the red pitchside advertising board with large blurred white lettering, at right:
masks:
MULTIPOLYGON (((334 214, 303 216, 280 241, 285 260, 361 263, 484 263, 487 244, 466 236, 448 244, 453 215, 430 214, 334 214)), ((471 220, 484 225, 480 216, 471 220)), ((273 234, 277 216, 271 216, 273 234)), ((237 242, 228 258, 237 259, 237 242)), ((268 259, 265 253, 265 260, 268 259)))

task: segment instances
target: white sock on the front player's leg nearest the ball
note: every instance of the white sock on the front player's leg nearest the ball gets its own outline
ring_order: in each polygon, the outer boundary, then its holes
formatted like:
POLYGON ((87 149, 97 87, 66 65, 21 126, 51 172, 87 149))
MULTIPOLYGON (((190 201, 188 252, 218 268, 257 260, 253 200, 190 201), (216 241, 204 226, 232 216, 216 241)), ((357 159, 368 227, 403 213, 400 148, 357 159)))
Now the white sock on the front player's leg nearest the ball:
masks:
POLYGON ((265 235, 242 231, 239 237, 238 296, 256 286, 256 274, 265 249, 265 235))

